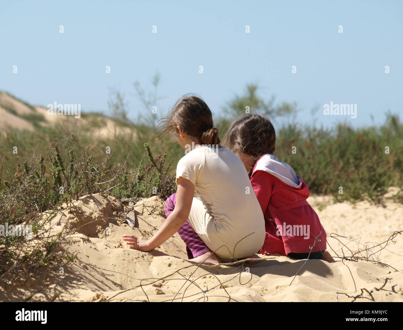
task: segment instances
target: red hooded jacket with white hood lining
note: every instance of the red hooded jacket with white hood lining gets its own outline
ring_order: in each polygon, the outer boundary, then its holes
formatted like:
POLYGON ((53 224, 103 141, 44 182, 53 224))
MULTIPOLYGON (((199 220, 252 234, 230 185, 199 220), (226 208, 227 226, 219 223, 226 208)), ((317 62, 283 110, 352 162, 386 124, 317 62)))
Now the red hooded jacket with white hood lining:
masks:
POLYGON ((266 226, 260 253, 309 253, 312 245, 312 252, 326 249, 326 232, 306 201, 309 188, 289 164, 263 155, 253 167, 251 185, 266 226))

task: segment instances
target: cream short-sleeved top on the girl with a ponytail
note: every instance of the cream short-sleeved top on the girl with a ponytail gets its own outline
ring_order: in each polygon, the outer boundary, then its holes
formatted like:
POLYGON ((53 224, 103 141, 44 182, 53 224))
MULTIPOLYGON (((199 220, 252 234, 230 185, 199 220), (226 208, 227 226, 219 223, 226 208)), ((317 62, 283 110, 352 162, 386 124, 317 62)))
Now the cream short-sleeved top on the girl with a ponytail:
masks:
POLYGON ((217 235, 232 247, 242 239, 237 250, 256 248, 257 252, 262 247, 263 212, 245 166, 230 149, 204 146, 191 150, 178 162, 176 178, 181 176, 195 185, 195 197, 212 216, 215 226, 206 226, 212 231, 208 235, 217 235))

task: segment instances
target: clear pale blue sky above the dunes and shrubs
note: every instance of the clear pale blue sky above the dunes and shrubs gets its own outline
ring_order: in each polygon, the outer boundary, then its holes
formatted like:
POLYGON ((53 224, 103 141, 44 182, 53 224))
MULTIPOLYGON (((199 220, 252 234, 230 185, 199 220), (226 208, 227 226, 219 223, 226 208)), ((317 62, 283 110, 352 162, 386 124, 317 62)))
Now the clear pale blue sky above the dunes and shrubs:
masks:
POLYGON ((300 122, 371 125, 371 114, 379 123, 387 110, 403 113, 402 13, 397 0, 2 1, 0 89, 30 104, 108 113, 113 88, 137 118, 133 81, 151 89, 158 71, 159 114, 185 93, 219 114, 259 83, 262 97, 296 101, 300 122), (330 102, 357 104, 357 118, 324 116, 330 102))

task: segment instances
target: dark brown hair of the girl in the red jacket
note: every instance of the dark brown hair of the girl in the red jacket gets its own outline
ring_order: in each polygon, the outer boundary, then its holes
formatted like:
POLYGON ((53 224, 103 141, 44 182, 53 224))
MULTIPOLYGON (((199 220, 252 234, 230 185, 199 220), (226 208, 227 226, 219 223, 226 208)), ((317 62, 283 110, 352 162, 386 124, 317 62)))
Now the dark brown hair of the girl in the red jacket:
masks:
POLYGON ((222 145, 234 154, 253 156, 256 162, 260 156, 274 154, 276 131, 268 118, 260 114, 249 114, 231 124, 222 145))

